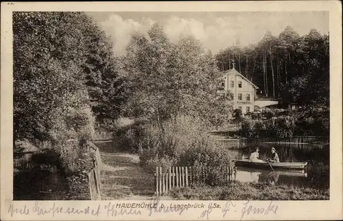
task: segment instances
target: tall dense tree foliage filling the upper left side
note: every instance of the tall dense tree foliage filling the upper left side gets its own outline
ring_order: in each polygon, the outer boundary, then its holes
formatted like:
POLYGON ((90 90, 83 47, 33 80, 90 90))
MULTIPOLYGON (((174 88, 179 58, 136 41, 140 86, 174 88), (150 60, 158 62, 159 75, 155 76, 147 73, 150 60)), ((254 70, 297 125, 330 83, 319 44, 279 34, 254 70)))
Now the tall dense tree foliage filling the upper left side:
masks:
POLYGON ((93 113, 117 117, 120 65, 86 14, 14 12, 13 34, 14 140, 90 139, 93 113))

